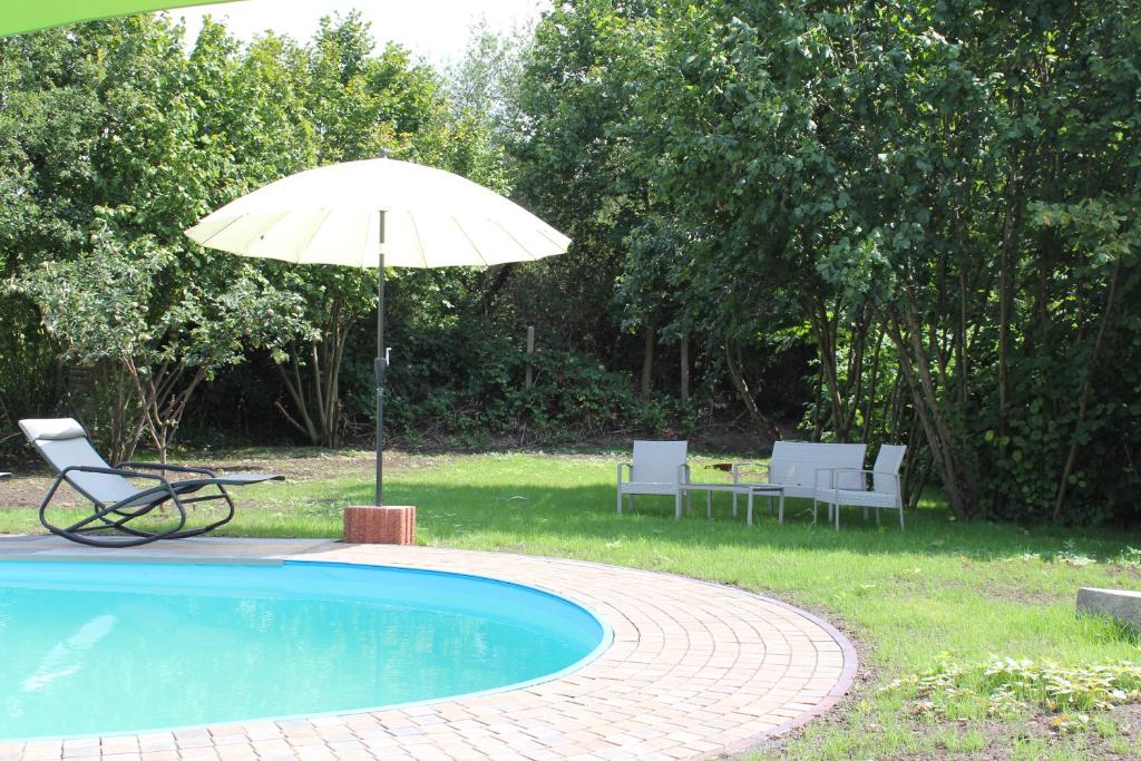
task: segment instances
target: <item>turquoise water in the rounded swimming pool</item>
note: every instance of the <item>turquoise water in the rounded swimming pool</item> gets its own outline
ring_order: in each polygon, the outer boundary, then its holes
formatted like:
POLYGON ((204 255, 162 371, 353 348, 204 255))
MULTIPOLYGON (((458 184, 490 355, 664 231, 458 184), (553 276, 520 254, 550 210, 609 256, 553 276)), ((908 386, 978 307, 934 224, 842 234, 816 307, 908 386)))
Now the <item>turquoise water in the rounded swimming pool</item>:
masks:
POLYGON ((318 562, 0 562, 0 739, 390 706, 564 671, 608 637, 488 578, 318 562))

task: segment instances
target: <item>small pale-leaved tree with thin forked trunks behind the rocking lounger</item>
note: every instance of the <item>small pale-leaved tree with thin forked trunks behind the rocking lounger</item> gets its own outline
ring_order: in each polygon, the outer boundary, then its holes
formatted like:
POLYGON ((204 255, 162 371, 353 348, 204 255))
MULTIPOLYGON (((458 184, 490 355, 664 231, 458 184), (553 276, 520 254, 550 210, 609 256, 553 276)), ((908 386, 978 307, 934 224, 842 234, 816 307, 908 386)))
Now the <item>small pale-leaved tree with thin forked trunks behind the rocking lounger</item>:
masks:
POLYGON ((144 431, 162 462, 191 396, 248 348, 281 353, 301 303, 249 272, 221 293, 192 282, 178 298, 155 288, 172 254, 151 238, 124 241, 110 224, 91 250, 47 261, 17 281, 66 359, 99 371, 111 404, 111 456, 131 458, 144 431))

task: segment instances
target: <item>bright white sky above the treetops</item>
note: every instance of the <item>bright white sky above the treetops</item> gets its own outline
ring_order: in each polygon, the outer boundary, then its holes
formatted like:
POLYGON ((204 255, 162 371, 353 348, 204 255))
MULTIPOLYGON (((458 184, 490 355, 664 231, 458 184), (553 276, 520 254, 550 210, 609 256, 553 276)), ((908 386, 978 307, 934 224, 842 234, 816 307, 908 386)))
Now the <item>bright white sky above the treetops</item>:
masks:
POLYGON ((322 16, 358 9, 372 22, 380 44, 391 40, 438 66, 459 58, 469 31, 480 18, 494 31, 510 32, 549 8, 548 0, 242 0, 215 6, 170 10, 186 19, 188 39, 197 37, 202 17, 226 19, 238 38, 250 40, 272 29, 297 40, 308 40, 322 16))

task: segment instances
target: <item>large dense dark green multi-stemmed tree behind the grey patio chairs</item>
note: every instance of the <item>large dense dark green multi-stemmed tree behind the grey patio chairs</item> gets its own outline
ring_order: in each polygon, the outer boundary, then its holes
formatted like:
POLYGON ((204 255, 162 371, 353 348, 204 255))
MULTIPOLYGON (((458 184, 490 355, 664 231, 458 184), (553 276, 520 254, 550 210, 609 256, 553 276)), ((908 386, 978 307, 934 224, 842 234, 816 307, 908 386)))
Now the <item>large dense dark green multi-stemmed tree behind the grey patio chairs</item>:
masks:
POLYGON ((1135 420, 1132 380, 1093 378, 1134 350, 1136 9, 1008 11, 670 3, 637 32, 629 129, 696 270, 738 273, 718 308, 795 299, 837 437, 885 335, 954 512, 1058 519, 1136 478, 1128 444, 1077 464, 1135 420))

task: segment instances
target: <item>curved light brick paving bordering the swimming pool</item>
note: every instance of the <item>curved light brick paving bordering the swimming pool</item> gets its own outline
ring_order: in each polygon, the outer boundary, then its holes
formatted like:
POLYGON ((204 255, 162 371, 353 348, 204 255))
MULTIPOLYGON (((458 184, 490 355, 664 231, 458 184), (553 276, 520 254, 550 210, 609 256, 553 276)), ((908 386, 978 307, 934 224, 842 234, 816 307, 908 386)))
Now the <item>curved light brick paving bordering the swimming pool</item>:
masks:
POLYGON ((483 697, 137 737, 0 745, 0 759, 706 758, 745 750, 808 721, 835 704, 856 671, 852 646, 819 618, 680 576, 419 547, 326 543, 292 557, 532 584, 591 607, 613 628, 614 643, 567 677, 483 697))

